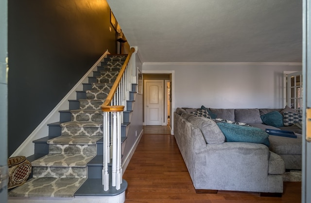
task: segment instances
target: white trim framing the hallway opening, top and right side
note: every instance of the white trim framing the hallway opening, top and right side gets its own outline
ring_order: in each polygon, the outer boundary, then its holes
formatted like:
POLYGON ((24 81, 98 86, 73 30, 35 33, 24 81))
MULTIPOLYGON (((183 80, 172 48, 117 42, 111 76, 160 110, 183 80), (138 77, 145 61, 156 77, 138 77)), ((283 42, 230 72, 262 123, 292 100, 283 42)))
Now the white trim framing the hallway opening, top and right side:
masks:
MULTIPOLYGON (((142 74, 171 74, 171 92, 172 92, 172 106, 171 106, 171 118, 170 118, 170 126, 171 126, 171 135, 174 135, 174 118, 173 118, 173 111, 175 110, 175 71, 174 70, 144 70, 142 69, 142 74)), ((145 115, 143 115, 145 116, 145 115)))

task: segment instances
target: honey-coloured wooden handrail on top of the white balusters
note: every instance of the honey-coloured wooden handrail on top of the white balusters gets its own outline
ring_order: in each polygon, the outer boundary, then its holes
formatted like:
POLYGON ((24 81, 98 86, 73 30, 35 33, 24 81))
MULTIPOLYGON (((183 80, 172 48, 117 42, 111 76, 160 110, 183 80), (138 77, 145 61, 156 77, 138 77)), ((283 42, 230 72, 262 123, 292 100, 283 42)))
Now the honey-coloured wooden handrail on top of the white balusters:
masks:
POLYGON ((101 105, 102 111, 106 111, 106 112, 118 112, 118 111, 123 111, 124 110, 124 106, 110 106, 111 100, 113 98, 113 96, 115 95, 118 85, 121 82, 121 78, 123 76, 123 73, 125 71, 125 68, 127 67, 127 64, 132 56, 132 53, 135 52, 135 48, 132 47, 130 49, 129 54, 127 55, 124 64, 122 65, 122 68, 116 78, 116 81, 114 82, 114 84, 111 87, 111 90, 106 98, 106 100, 104 101, 104 103, 101 105))

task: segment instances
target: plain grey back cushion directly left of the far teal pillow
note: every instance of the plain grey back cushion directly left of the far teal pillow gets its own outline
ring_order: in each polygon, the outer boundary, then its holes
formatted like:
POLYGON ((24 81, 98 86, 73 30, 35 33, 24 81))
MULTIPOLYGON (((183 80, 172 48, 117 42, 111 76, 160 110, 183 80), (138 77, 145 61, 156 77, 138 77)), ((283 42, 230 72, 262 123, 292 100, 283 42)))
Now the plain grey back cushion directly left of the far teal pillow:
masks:
POLYGON ((244 123, 262 123, 259 109, 235 109, 234 118, 237 122, 244 123))

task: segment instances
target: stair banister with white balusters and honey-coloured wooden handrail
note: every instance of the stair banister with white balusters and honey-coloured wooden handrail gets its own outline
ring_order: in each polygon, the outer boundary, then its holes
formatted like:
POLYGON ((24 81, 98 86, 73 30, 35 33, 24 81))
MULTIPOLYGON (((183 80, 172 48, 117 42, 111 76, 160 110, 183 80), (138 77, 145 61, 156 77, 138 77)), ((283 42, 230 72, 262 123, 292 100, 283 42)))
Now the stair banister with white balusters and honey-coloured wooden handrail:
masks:
POLYGON ((135 64, 135 53, 126 58, 124 65, 113 85, 111 92, 108 94, 106 101, 101 106, 104 111, 104 155, 103 155, 103 185, 104 191, 109 186, 114 186, 116 190, 121 188, 122 184, 122 167, 121 167, 121 124, 123 123, 123 111, 127 110, 126 101, 130 99, 130 91, 134 81, 133 68, 135 64), (111 95, 111 96, 110 96, 111 95), (111 183, 109 183, 108 163, 111 160, 111 183))

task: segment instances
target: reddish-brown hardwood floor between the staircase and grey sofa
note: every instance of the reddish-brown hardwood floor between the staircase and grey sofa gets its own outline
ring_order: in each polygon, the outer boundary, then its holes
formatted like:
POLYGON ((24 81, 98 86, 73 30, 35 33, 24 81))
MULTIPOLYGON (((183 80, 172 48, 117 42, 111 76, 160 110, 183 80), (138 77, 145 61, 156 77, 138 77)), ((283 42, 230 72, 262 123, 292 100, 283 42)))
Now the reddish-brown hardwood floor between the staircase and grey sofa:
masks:
POLYGON ((284 182, 281 198, 252 192, 195 193, 174 136, 169 134, 142 135, 123 178, 128 183, 125 203, 301 202, 301 182, 284 182))

